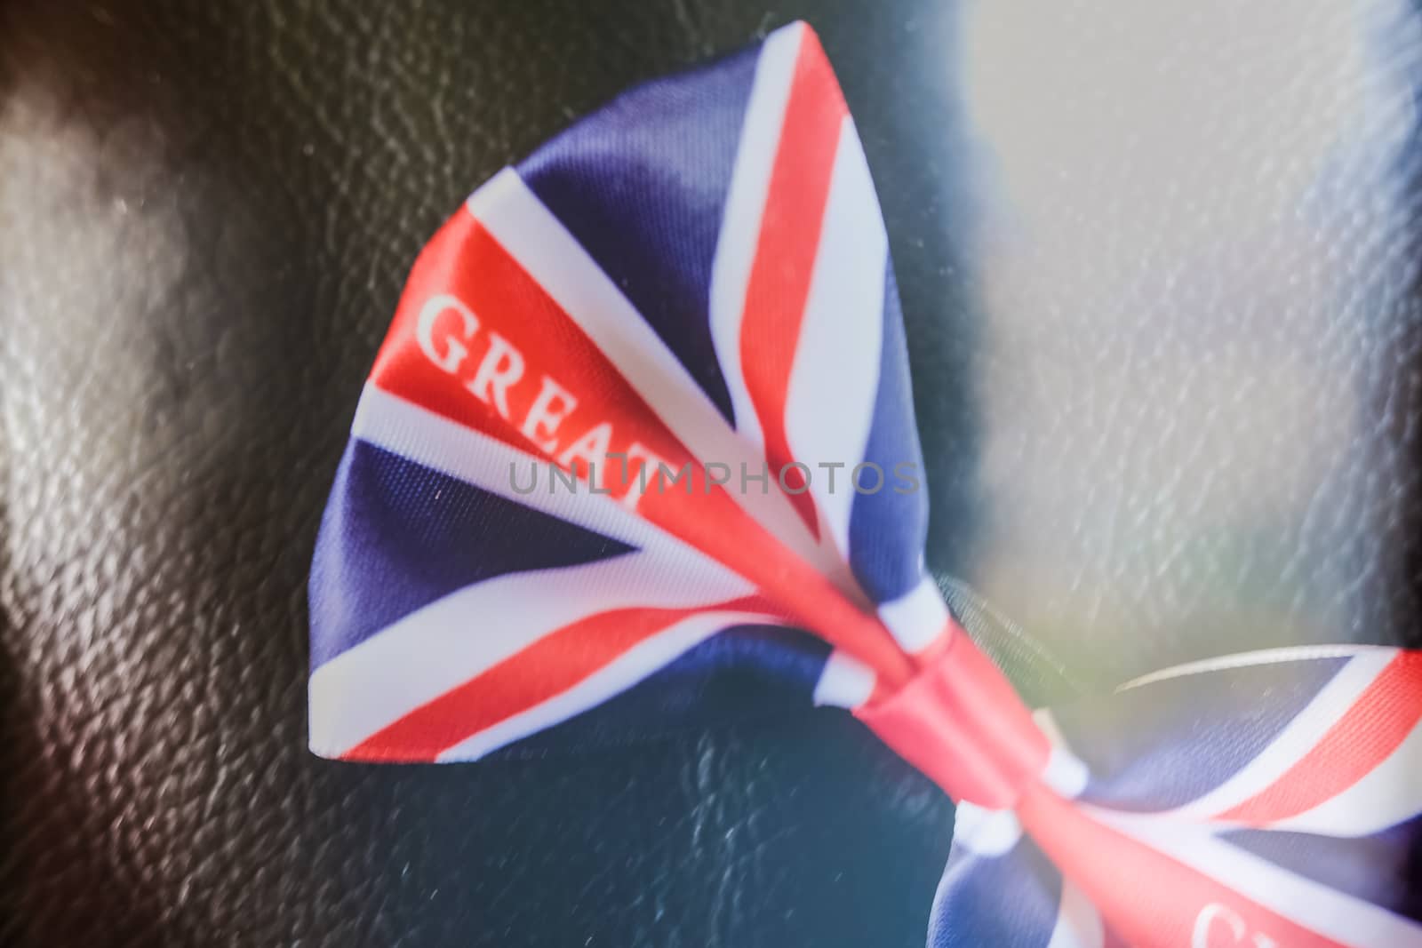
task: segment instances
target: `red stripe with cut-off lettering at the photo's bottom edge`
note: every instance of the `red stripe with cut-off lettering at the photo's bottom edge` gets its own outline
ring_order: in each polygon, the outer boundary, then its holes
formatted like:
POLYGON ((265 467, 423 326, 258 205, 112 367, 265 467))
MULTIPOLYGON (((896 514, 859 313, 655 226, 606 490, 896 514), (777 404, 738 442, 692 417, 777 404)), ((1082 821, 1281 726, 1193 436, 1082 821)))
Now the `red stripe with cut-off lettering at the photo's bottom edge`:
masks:
POLYGON ((1041 785, 1027 790, 1017 813, 1032 840, 1128 945, 1347 948, 1098 823, 1041 785))

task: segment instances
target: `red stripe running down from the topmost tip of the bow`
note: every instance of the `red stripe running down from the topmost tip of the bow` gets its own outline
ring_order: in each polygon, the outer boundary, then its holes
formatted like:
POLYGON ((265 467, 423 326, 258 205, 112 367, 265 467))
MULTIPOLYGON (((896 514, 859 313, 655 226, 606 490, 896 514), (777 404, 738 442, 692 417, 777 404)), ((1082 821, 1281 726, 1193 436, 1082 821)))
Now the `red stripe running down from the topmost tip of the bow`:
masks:
MULTIPOLYGON (((785 401, 835 151, 849 114, 819 40, 809 30, 802 37, 741 317, 741 372, 761 422, 772 476, 795 460, 785 432, 785 401)), ((799 492, 791 493, 791 503, 819 537, 815 500, 803 490, 798 468, 785 470, 785 485, 799 492)))

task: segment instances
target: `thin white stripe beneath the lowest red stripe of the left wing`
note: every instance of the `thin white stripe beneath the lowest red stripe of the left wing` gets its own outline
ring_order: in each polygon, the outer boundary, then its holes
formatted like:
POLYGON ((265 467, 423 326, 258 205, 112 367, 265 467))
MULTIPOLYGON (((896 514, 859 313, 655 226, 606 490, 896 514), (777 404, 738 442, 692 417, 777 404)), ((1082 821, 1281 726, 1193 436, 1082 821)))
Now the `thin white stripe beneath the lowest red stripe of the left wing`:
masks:
POLYGON ((665 667, 674 658, 710 638, 722 628, 764 623, 766 617, 755 613, 702 613, 688 615, 680 623, 637 642, 616 661, 597 669, 567 691, 547 701, 505 718, 476 735, 456 743, 438 758, 449 760, 476 760, 491 750, 513 743, 530 733, 552 728, 589 708, 594 708, 613 695, 627 691, 643 678, 665 667))

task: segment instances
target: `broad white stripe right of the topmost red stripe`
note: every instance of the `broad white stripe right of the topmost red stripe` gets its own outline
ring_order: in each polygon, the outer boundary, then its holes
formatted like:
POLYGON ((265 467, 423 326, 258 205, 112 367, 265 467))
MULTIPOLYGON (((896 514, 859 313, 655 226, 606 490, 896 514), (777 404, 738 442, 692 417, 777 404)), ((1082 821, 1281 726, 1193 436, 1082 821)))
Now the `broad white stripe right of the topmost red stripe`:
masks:
MULTIPOLYGON (((869 162, 855 122, 846 117, 839 128, 815 269, 785 392, 791 455, 809 465, 809 492, 828 527, 826 539, 846 559, 849 513, 856 496, 850 478, 869 443, 879 391, 887 254, 889 237, 869 162), (843 466, 833 470, 820 465, 843 466)), ((890 460, 890 468, 880 469, 877 476, 866 469, 865 488, 877 483, 877 490, 892 490, 892 465, 897 460, 890 460)))

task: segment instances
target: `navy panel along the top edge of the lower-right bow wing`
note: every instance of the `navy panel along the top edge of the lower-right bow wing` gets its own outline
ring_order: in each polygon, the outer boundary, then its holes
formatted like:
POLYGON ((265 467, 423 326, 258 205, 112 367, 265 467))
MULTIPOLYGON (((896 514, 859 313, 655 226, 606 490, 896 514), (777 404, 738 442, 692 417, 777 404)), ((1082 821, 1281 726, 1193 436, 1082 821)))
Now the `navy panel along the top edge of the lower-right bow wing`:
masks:
POLYGON ((1066 745, 1091 767, 1085 799, 1121 809, 1170 809, 1254 759, 1347 661, 1182 675, 1052 712, 1066 745))

